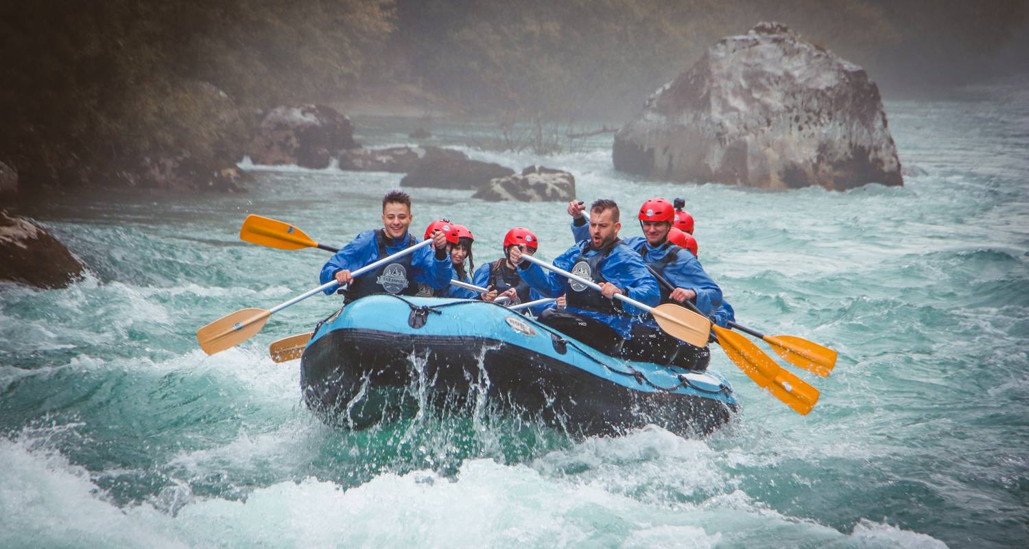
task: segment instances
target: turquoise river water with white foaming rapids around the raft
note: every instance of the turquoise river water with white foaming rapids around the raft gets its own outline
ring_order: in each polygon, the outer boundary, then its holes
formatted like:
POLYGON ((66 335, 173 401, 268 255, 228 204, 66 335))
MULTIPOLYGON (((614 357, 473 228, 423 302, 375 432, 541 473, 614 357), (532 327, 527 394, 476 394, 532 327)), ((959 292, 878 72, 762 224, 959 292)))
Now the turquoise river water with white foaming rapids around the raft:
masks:
MULTIPOLYGON (((378 220, 399 175, 256 171, 251 192, 62 196, 21 211, 90 266, 59 290, 0 285, 0 546, 1022 547, 1029 541, 1029 98, 893 102, 902 188, 769 194, 616 173, 610 136, 558 158, 579 198, 684 197, 741 322, 840 351, 806 417, 714 351, 743 411, 687 440, 560 432, 484 410, 347 433, 267 345, 336 302, 277 314, 206 356, 196 330, 317 285, 326 256, 241 243, 247 213, 329 244, 378 220)), ((412 124, 358 119, 369 145, 412 124)), ((436 128, 441 143, 456 128, 436 128)), ((473 129, 474 130, 474 129, 473 129)), ((417 227, 512 225, 553 258, 563 204, 411 190, 417 227)))

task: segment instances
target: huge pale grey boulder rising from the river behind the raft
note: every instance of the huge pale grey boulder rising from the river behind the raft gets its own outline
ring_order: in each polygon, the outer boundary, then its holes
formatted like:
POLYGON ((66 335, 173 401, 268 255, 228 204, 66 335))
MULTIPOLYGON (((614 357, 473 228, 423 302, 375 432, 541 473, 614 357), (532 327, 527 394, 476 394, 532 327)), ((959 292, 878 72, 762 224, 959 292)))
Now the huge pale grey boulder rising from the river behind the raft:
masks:
POLYGON ((615 134, 612 152, 617 170, 676 181, 903 183, 876 83, 774 23, 711 46, 615 134))

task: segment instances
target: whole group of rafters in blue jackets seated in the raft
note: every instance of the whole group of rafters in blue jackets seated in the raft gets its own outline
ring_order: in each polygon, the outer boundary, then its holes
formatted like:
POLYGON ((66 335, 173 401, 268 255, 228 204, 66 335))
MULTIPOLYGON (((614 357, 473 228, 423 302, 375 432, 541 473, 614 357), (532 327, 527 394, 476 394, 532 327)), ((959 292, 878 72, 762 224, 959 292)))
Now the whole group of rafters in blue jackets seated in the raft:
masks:
MULTIPOLYGON (((541 323, 604 353, 689 370, 707 368, 708 348, 669 336, 649 314, 614 300, 614 295, 623 294, 651 307, 689 301, 719 325, 735 320, 721 289, 697 260, 694 218, 682 209, 679 199, 676 204, 663 198, 644 202, 638 215, 643 236, 626 239, 618 237, 622 224, 614 201, 594 202, 589 219, 584 203, 568 204, 575 244, 556 258, 554 265, 593 280, 600 291, 524 261, 523 255, 536 252, 539 241, 521 227, 504 236, 503 258, 474 269, 471 231, 446 219, 432 221, 426 229, 424 238, 432 239, 431 246, 355 278, 352 271, 419 242, 409 232, 411 197, 393 191, 383 198, 382 205, 383 228, 357 235, 322 267, 321 282, 335 279, 348 285, 341 290, 348 302, 372 294, 504 301, 507 305, 557 298, 529 311, 541 323), (469 272, 473 273, 470 277, 469 272), (452 279, 487 291, 452 285, 452 279)), ((326 294, 332 291, 327 289, 326 294)))

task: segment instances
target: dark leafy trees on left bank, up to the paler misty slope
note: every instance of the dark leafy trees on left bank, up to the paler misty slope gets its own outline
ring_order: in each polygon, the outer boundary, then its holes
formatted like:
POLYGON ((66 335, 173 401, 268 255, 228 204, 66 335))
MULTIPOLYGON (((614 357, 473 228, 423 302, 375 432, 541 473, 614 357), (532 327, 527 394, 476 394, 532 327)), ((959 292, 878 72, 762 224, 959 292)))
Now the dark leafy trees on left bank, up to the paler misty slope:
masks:
POLYGON ((5 2, 0 159, 23 187, 238 159, 256 109, 352 89, 392 18, 391 0, 5 2))

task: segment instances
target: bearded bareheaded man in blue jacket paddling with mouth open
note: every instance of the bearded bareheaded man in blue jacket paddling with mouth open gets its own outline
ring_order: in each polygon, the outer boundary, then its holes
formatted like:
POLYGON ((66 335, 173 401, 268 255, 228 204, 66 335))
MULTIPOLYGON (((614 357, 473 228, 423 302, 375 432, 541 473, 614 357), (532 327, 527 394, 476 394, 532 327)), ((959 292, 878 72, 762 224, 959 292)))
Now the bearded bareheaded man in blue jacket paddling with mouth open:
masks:
POLYGON ((548 298, 565 296, 565 311, 548 309, 540 315, 547 323, 568 335, 609 353, 618 352, 622 340, 631 337, 634 318, 645 315, 632 306, 613 299, 623 294, 645 305, 658 305, 661 293, 658 281, 646 269, 640 255, 618 239, 618 205, 612 200, 598 200, 590 207, 590 238, 577 242, 554 260, 554 265, 592 279, 597 291, 584 284, 538 265, 522 262, 521 250, 511 250, 511 262, 533 289, 548 298), (570 318, 562 318, 568 315, 570 318), (606 330, 605 330, 606 329, 606 330))

